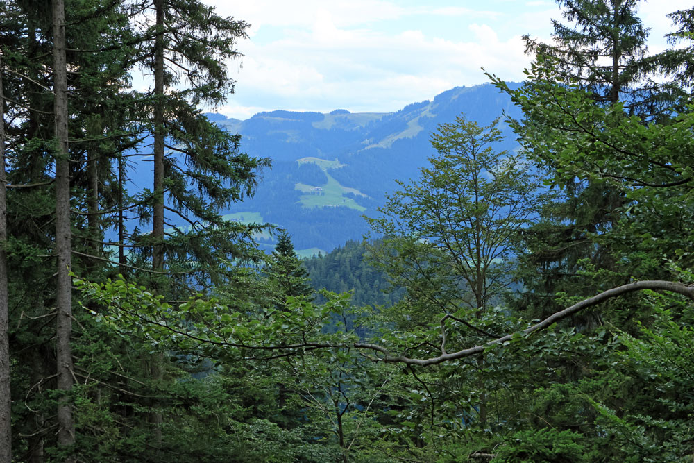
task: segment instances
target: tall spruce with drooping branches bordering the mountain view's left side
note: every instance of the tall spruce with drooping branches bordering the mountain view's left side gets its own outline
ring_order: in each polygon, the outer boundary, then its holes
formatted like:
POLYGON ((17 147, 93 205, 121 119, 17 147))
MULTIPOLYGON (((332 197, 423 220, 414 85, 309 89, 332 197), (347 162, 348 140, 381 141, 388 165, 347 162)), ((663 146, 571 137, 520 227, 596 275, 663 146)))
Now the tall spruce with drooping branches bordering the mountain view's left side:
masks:
POLYGON ((155 13, 153 25, 140 31, 138 56, 154 76, 152 117, 145 120, 153 137, 152 265, 162 270, 168 253, 178 256, 178 264, 208 258, 219 267, 192 242, 209 238, 212 228, 232 233, 217 211, 252 194, 254 169, 267 162, 239 152, 239 136, 213 124, 198 107, 217 106, 233 92, 226 62, 239 57, 235 44, 247 24, 197 0, 148 0, 137 8, 142 15, 155 13), (164 228, 180 235, 181 223, 190 227, 185 243, 180 236, 178 244, 165 240, 164 228))

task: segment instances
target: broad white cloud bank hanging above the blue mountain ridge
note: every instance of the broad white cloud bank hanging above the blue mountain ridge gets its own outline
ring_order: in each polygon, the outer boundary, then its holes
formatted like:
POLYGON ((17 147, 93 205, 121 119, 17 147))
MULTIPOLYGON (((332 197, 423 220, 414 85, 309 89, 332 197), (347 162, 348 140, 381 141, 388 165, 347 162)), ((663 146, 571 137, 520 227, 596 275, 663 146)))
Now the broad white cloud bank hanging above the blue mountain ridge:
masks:
MULTIPOLYGON (((486 81, 481 67, 521 79, 528 59, 521 37, 501 42, 488 24, 470 26, 469 40, 337 27, 329 12, 312 25, 270 44, 244 43, 237 106, 329 111, 397 110, 456 85, 486 81), (509 71, 509 69, 514 69, 509 71)), ((233 107, 226 108, 230 114, 233 107)))

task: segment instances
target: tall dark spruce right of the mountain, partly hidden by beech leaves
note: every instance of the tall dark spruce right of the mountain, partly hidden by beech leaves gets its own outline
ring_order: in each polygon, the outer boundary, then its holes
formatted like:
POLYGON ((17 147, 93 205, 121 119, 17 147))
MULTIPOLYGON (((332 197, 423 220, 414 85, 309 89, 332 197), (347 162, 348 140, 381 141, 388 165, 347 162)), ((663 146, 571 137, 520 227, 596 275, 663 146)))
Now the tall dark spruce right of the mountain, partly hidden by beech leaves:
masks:
MULTIPOLYGON (((527 51, 536 54, 535 69, 550 66, 555 83, 580 88, 598 106, 619 103, 631 114, 657 117, 662 99, 659 85, 651 79, 654 65, 645 44, 648 29, 636 15, 640 1, 557 0, 566 24, 552 21, 554 42, 525 36, 527 51)), ((552 88, 562 91, 541 79, 525 83, 525 88, 549 94, 552 88)), ((559 307, 552 303, 557 292, 582 296, 595 292, 593 282, 579 275, 582 271, 616 269, 613 251, 604 240, 598 244, 597 237, 616 226, 625 198, 620 188, 600 179, 565 174, 554 153, 561 144, 552 143, 551 131, 529 112, 525 116, 523 123, 515 124, 521 143, 550 176, 561 177, 557 183, 564 187, 563 201, 544 205, 541 220, 526 233, 526 246, 532 252, 519 267, 524 285, 533 289, 525 294, 524 304, 551 312, 559 307)), ((581 131, 581 124, 577 125, 576 131, 581 131)), ((602 278, 604 287, 619 283, 623 282, 618 276, 602 278)))

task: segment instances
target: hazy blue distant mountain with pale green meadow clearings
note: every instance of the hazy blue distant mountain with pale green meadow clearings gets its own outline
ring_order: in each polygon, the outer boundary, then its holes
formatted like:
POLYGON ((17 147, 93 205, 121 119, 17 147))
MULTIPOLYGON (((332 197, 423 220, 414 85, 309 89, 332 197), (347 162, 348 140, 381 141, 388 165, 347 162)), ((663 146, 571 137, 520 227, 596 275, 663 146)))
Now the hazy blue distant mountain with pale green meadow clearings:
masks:
MULTIPOLYGON (((518 117, 509 96, 491 84, 455 87, 391 113, 261 112, 245 121, 213 115, 217 124, 242 135, 249 155, 269 157, 254 199, 237 203, 228 217, 265 221, 286 228, 294 246, 306 255, 323 253, 349 239, 360 239, 393 181, 418 177, 434 154, 430 133, 464 113, 489 124, 506 112, 518 117)), ((498 149, 514 149, 515 136, 498 149)), ((271 248, 270 237, 260 237, 271 248)))

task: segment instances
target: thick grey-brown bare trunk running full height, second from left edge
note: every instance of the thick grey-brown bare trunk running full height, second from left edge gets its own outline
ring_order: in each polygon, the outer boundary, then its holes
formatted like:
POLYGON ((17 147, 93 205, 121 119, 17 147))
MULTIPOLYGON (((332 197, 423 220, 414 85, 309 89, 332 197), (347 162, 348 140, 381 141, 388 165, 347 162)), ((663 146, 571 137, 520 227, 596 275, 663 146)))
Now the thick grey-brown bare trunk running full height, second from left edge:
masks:
MULTIPOLYGON (((65 56, 65 0, 53 0, 53 93, 56 125, 56 362, 58 390, 58 445, 75 443, 69 392, 72 389, 72 289, 70 271, 70 167, 67 151, 67 58, 65 56)), ((66 462, 74 462, 68 457, 66 462)))

